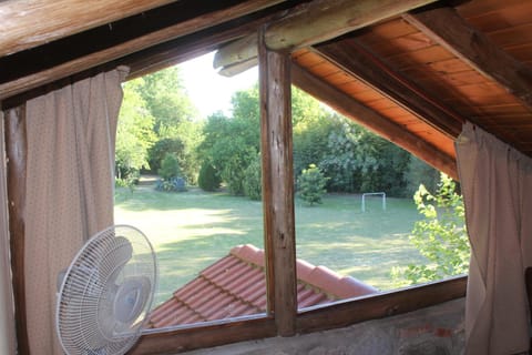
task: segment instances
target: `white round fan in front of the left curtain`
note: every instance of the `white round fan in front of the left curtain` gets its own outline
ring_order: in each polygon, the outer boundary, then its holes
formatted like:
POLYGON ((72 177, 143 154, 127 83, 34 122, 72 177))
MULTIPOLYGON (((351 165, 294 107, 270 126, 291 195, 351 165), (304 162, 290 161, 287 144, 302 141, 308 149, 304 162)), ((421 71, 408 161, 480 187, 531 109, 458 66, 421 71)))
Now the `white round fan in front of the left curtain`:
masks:
POLYGON ((55 324, 68 355, 124 354, 147 322, 157 281, 147 237, 114 225, 78 252, 61 284, 55 324))

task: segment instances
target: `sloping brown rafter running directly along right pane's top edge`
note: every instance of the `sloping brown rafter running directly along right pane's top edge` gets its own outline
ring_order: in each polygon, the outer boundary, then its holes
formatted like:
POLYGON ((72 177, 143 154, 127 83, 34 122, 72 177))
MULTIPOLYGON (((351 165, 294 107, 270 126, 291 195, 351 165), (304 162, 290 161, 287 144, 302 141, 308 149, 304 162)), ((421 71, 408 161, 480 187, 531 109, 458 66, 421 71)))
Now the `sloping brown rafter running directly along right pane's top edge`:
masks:
POLYGON ((319 101, 458 181, 456 160, 442 153, 421 138, 410 133, 397 123, 391 122, 372 109, 355 101, 348 94, 339 91, 321 79, 316 78, 296 64, 291 65, 291 81, 296 87, 319 101))

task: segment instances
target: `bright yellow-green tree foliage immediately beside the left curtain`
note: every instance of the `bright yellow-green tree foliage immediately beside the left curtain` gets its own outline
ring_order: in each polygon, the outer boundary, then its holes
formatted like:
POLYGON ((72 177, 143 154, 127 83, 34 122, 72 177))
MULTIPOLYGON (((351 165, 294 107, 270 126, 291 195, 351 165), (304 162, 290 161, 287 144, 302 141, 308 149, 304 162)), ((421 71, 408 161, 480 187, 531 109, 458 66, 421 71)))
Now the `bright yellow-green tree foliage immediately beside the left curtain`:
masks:
POLYGON ((124 84, 124 100, 116 128, 115 165, 119 180, 132 180, 149 168, 147 150, 153 144, 154 118, 137 92, 142 79, 124 84))

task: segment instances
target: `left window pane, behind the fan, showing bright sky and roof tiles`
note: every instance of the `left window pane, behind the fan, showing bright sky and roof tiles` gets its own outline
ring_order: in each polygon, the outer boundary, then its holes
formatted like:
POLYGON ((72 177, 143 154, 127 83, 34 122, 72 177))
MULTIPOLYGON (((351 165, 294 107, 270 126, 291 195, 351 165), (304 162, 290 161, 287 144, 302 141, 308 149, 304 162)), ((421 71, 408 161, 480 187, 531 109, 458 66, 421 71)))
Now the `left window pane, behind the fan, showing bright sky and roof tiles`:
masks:
POLYGON ((223 78, 212 57, 124 84, 115 223, 156 251, 152 327, 266 311, 257 74, 223 78))

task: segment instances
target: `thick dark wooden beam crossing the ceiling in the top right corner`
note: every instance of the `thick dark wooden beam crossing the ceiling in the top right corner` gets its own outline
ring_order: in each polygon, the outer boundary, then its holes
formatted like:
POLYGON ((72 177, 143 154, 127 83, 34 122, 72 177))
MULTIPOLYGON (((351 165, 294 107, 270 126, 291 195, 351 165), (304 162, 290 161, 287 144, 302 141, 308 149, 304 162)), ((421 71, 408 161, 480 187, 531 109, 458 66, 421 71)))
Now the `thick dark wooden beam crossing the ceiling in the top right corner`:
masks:
POLYGON ((478 31, 452 8, 437 8, 403 14, 433 41, 468 62, 483 75, 499 82, 532 108, 532 70, 478 31))

